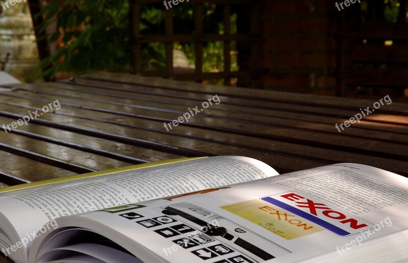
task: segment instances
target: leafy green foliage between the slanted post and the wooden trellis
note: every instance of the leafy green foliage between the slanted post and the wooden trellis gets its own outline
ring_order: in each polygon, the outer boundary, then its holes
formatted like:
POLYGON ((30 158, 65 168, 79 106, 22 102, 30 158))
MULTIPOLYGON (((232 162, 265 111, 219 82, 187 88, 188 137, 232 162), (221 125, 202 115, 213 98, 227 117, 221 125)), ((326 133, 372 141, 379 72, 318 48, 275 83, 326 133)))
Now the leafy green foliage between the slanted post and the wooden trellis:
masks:
POLYGON ((52 65, 42 75, 54 78, 58 71, 129 70, 133 57, 127 0, 66 0, 51 2, 40 14, 39 29, 57 19, 51 43, 61 38, 63 46, 40 62, 38 69, 52 65), (57 15, 58 14, 58 15, 57 15))

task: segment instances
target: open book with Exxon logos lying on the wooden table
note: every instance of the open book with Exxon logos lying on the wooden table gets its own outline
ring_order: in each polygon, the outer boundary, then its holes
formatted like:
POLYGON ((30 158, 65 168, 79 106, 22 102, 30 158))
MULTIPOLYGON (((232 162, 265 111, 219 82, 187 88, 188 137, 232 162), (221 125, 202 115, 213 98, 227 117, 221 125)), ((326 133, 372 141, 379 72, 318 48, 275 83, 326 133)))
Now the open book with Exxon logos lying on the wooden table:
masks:
POLYGON ((2 189, 0 249, 17 262, 403 262, 407 204, 407 178, 365 165, 278 175, 248 157, 183 159, 2 189))

